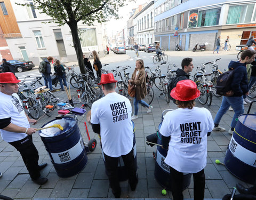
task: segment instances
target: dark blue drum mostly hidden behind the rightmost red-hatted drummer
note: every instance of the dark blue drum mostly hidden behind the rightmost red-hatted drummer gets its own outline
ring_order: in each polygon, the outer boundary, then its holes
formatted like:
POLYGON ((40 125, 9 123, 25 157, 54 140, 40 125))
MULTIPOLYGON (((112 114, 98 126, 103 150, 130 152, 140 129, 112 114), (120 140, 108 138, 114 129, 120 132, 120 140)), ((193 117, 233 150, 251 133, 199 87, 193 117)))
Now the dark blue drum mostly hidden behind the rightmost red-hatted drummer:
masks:
MULTIPOLYGON (((162 122, 158 126, 158 130, 160 130, 162 126, 162 122)), ((157 133, 158 139, 157 143, 159 145, 163 145, 162 143, 162 134, 158 131, 157 133)), ((165 157, 167 156, 167 150, 163 149, 160 146, 157 146, 156 150, 156 164, 155 164, 155 179, 159 183, 159 185, 165 187, 168 190, 172 190, 172 183, 170 179, 170 168, 164 162, 165 157)), ((187 189, 190 185, 191 173, 183 174, 183 190, 187 189)))

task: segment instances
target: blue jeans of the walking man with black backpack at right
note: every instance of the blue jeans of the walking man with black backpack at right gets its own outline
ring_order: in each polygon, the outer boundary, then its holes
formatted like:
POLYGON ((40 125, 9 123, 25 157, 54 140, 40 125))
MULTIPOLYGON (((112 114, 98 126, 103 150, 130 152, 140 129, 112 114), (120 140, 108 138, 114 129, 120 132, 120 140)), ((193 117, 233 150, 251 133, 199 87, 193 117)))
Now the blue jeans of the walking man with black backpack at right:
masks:
POLYGON ((214 119, 214 124, 219 124, 221 117, 227 112, 229 106, 235 111, 234 117, 231 122, 231 127, 236 127, 236 120, 239 115, 244 113, 243 97, 225 97, 223 96, 220 109, 214 119))

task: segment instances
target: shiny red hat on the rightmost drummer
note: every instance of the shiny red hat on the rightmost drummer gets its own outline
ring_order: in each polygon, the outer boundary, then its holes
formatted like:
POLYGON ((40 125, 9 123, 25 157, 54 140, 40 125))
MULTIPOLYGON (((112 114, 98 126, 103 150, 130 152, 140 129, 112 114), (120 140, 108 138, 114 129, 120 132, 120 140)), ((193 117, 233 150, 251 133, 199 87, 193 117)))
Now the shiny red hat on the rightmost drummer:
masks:
POLYGON ((178 101, 190 101, 200 96, 200 91, 194 81, 179 81, 171 91, 171 97, 178 101))

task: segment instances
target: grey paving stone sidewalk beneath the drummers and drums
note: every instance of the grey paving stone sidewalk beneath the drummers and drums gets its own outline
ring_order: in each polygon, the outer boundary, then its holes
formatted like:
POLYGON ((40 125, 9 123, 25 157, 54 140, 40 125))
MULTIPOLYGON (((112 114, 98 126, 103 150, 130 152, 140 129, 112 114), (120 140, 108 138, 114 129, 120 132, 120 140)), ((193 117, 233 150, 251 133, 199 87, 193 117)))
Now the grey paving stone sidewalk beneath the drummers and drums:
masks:
MULTIPOLYGON (((145 144, 147 135, 154 133, 158 129, 161 122, 162 111, 165 109, 176 108, 170 102, 167 105, 164 96, 158 97, 160 91, 154 89, 155 97, 151 103, 154 106, 152 113, 147 114, 144 107, 139 107, 139 118, 135 122, 135 135, 137 144, 137 162, 139 183, 135 191, 131 191, 128 187, 128 182, 121 182, 122 195, 121 198, 171 198, 171 192, 167 191, 167 195, 161 194, 162 186, 160 186, 154 178, 155 160, 153 152, 156 147, 150 147, 145 144)), ((76 97, 75 89, 72 92, 76 97)), ((60 99, 67 99, 66 93, 57 91, 54 93, 60 99)), ((215 117, 221 98, 213 97, 211 106, 203 106, 209 109, 213 118, 215 117)), ((196 106, 202 105, 196 101, 196 106)), ((245 105, 245 112, 249 108, 245 105)), ((251 113, 256 111, 253 106, 251 113)), ((51 117, 43 117, 35 127, 41 127, 45 123, 54 119, 57 111, 54 111, 51 117)), ((220 125, 229 129, 231 118, 234 111, 227 111, 223 116, 220 125)), ((42 115, 42 113, 41 113, 42 115)), ((80 120, 85 121, 85 117, 79 117, 80 120)), ((85 142, 88 141, 83 123, 78 123, 85 142)), ((55 172, 54 167, 50 161, 49 155, 45 150, 43 142, 38 133, 33 135, 33 141, 39 152, 39 163, 47 162, 48 165, 42 170, 42 175, 46 176, 49 181, 42 186, 36 185, 31 181, 28 171, 22 161, 22 158, 17 150, 15 150, 7 142, 0 139, 0 171, 3 176, 0 178, 0 193, 15 199, 38 199, 38 198, 114 198, 109 188, 109 181, 105 174, 105 169, 102 160, 101 148, 99 145, 99 138, 92 131, 91 126, 88 126, 90 137, 95 138, 98 142, 97 148, 87 155, 88 162, 84 170, 69 178, 59 178, 55 172)), ((215 164, 215 159, 223 162, 225 153, 231 135, 226 132, 213 131, 211 136, 207 138, 207 165, 205 167, 206 183, 205 183, 205 198, 220 199, 225 194, 230 194, 232 188, 236 183, 242 183, 249 187, 247 183, 237 179, 223 165, 215 164)), ((184 198, 193 198, 193 179, 185 191, 183 191, 184 198)))

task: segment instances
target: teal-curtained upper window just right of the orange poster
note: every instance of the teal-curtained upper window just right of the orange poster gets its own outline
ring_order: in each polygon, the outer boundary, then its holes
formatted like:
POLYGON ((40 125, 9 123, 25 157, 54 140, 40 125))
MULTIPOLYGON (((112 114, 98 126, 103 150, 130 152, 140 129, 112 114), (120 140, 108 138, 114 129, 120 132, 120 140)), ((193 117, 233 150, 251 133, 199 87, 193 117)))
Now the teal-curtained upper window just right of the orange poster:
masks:
POLYGON ((198 12, 197 27, 219 25, 221 7, 198 12))

